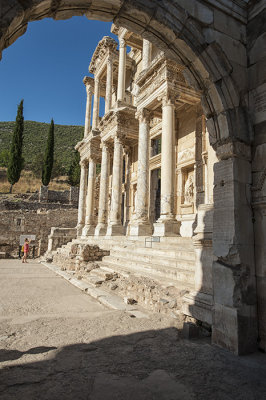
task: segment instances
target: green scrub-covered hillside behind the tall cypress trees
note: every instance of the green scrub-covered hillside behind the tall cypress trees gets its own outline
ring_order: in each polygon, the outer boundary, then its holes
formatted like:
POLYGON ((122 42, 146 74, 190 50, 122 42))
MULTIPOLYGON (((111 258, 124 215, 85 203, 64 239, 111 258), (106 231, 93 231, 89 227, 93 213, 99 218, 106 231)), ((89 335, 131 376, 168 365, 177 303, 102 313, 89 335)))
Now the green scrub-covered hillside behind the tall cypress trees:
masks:
MULTIPOLYGON (((0 151, 9 150, 15 122, 0 122, 0 151)), ((23 157, 25 168, 31 170, 33 164, 42 159, 45 151, 49 124, 35 121, 24 122, 23 157)), ((73 160, 74 147, 83 136, 82 126, 55 125, 56 166, 62 173, 68 171, 73 160)))

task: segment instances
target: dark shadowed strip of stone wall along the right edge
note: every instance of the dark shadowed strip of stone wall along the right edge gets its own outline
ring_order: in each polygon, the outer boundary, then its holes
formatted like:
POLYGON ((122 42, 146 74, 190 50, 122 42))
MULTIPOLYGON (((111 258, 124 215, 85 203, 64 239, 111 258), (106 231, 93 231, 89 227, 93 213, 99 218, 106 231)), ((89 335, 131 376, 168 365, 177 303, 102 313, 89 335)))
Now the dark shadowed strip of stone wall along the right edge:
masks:
POLYGON ((248 36, 249 103, 253 115, 252 205, 259 314, 259 346, 266 350, 266 3, 250 2, 248 36))

